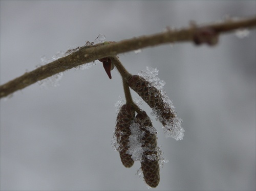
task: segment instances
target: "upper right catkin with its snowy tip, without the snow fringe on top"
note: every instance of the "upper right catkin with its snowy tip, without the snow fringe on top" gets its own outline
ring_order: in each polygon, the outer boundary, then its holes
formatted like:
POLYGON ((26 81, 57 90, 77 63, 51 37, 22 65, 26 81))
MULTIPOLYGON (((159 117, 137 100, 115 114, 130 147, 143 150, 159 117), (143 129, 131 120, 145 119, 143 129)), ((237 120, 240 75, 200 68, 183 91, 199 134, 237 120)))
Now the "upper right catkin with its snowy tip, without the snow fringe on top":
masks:
POLYGON ((153 109, 157 120, 164 126, 166 137, 183 139, 182 120, 176 116, 175 107, 166 94, 138 75, 133 75, 127 83, 153 109))

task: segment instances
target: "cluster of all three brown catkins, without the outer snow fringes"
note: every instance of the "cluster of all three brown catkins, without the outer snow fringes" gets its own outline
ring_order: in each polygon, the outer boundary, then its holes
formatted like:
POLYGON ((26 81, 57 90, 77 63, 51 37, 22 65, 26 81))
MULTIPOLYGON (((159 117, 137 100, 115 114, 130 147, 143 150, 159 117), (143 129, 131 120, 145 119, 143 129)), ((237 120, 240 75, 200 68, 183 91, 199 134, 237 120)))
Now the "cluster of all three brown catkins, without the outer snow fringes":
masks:
MULTIPOLYGON (((126 79, 126 83, 153 111, 158 113, 158 121, 164 127, 168 127, 165 130, 173 131, 174 129, 170 127, 175 126, 176 112, 172 106, 166 103, 163 94, 150 82, 137 75, 126 79)), ((135 160, 139 160, 146 184, 156 187, 160 181, 159 164, 161 163, 161 151, 157 146, 156 130, 145 111, 135 110, 134 105, 128 102, 120 107, 114 133, 118 145, 117 150, 121 162, 126 168, 130 168, 135 160)), ((180 133, 183 134, 184 130, 182 130, 180 133)))

